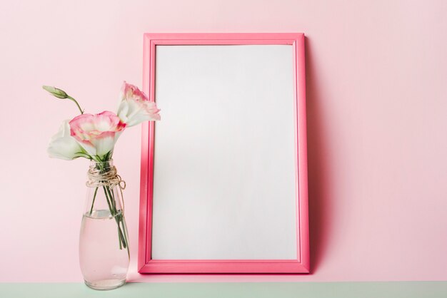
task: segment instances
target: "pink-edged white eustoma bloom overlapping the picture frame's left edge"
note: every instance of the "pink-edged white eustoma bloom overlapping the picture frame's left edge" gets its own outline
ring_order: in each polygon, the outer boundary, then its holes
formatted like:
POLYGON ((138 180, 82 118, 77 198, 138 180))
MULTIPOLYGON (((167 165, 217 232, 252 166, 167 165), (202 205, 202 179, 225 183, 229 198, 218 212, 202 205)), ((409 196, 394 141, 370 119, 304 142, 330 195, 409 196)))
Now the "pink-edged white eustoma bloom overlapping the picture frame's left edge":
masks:
POLYGON ((124 81, 121 87, 118 116, 128 127, 147 120, 160 120, 159 109, 139 88, 124 81))

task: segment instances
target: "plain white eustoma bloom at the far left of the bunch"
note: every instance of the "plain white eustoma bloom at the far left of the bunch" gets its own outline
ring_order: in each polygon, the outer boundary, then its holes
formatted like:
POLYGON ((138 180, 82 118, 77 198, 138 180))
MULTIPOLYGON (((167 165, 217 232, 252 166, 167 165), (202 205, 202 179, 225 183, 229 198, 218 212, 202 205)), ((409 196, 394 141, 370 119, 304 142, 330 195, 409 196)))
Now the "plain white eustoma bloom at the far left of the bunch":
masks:
POLYGON ((90 158, 86 150, 70 135, 69 120, 65 120, 58 133, 51 138, 47 151, 50 158, 61 158, 63 160, 90 158))

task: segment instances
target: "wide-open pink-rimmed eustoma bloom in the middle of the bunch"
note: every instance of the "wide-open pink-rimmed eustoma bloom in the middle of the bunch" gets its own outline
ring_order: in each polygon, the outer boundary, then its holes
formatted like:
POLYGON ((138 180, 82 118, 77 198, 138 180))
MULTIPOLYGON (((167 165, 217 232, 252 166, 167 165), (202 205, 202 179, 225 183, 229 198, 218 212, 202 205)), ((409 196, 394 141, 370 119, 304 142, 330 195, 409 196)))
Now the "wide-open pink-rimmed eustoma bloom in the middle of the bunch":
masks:
POLYGON ((112 112, 81 114, 69 122, 70 135, 95 160, 108 160, 126 123, 112 112))

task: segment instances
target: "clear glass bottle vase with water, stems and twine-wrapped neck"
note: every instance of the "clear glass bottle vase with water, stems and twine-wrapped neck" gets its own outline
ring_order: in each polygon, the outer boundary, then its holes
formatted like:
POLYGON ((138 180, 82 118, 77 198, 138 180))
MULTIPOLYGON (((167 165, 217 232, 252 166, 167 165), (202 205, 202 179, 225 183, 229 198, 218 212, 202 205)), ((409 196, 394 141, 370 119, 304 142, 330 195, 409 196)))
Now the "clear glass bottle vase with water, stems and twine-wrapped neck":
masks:
POLYGON ((129 238, 124 219, 124 181, 113 160, 91 161, 87 198, 79 236, 79 263, 92 289, 115 289, 126 283, 129 238))

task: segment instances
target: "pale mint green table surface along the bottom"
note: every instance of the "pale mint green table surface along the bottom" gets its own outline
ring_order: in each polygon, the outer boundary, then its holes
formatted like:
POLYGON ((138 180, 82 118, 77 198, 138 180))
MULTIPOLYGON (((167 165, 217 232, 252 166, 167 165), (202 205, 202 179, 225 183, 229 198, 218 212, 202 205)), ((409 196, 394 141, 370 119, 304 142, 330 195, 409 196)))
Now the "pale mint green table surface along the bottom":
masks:
POLYGON ((447 298, 447 282, 129 283, 95 291, 81 283, 0 283, 0 297, 447 298))

